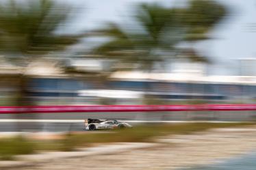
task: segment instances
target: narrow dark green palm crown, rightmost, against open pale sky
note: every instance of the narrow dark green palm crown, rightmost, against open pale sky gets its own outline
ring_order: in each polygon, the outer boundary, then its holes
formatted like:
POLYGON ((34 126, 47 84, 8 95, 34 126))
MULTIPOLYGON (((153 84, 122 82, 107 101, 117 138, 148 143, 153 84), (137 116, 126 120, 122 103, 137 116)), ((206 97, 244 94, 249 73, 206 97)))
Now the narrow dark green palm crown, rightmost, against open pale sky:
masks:
POLYGON ((190 0, 181 12, 182 23, 186 27, 185 42, 190 45, 185 51, 192 61, 209 63, 207 57, 200 56, 194 44, 211 38, 209 32, 227 15, 227 9, 217 1, 190 0), (194 57, 192 57, 194 55, 194 57))

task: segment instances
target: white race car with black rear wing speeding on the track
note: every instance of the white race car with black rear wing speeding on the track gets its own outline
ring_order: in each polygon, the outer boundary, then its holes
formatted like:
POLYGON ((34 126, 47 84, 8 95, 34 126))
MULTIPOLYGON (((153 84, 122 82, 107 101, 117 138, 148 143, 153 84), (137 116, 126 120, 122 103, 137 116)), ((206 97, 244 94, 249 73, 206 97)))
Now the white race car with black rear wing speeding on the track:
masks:
POLYGON ((87 119, 84 122, 86 126, 85 130, 102 130, 102 129, 115 129, 115 128, 131 128, 132 126, 124 123, 118 122, 115 119, 87 119))

